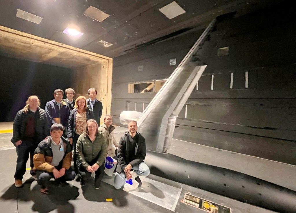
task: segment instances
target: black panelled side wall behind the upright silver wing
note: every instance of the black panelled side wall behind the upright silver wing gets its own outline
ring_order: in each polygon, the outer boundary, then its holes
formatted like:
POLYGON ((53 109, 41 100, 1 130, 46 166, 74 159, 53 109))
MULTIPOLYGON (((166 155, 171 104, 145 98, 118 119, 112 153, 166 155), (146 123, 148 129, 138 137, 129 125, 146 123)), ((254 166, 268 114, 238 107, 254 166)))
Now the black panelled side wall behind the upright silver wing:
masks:
MULTIPOLYGON (((193 90, 186 102, 187 117, 185 107, 179 114, 176 125, 182 129, 176 131, 174 138, 184 140, 186 136, 191 142, 205 144, 195 137, 202 134, 202 128, 206 128, 208 135, 224 131, 229 141, 220 148, 296 163, 291 158, 295 156, 296 141, 296 24, 290 3, 284 1, 217 25, 196 54, 200 63, 208 66, 198 82, 198 90, 193 90), (229 55, 218 57, 217 50, 221 47, 229 47, 229 55), (194 128, 198 131, 194 132, 194 128), (237 133, 253 138, 242 143, 237 133)), ((145 108, 155 96, 155 93, 128 94, 128 83, 168 78, 177 66, 169 66, 169 59, 177 58, 178 64, 200 34, 201 30, 194 31, 114 58, 111 113, 115 124, 120 125, 120 112, 135 110, 135 106, 142 112, 143 104, 145 108), (141 65, 144 72, 138 71, 141 65)), ((206 145, 217 147, 220 139, 219 134, 215 139, 209 137, 206 145)))

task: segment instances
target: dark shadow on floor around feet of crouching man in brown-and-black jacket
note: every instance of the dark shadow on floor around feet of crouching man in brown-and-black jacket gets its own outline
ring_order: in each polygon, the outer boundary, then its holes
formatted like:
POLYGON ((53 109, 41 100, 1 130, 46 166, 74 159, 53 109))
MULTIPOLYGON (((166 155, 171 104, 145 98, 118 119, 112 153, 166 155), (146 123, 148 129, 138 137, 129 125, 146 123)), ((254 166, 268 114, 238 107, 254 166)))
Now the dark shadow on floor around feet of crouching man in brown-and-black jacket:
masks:
POLYGON ((16 188, 14 185, 10 186, 0 199, 33 201, 32 210, 39 213, 47 213, 54 209, 57 209, 59 213, 75 212, 74 206, 68 201, 75 200, 78 197, 77 187, 67 183, 63 183, 61 187, 58 187, 52 184, 54 181, 50 181, 49 194, 42 195, 39 191, 39 185, 30 190, 33 181, 32 178, 28 179, 24 182, 22 188, 16 188))

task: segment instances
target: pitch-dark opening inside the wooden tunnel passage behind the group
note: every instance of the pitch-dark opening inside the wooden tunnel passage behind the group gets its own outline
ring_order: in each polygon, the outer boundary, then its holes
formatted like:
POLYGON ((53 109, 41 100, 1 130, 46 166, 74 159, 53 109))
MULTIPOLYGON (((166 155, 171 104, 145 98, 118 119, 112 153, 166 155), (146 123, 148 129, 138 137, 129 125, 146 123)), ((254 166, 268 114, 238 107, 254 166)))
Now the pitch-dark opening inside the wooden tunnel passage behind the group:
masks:
POLYGON ((37 95, 44 109, 55 89, 72 85, 70 69, 0 56, 0 122, 13 121, 30 95, 37 95))

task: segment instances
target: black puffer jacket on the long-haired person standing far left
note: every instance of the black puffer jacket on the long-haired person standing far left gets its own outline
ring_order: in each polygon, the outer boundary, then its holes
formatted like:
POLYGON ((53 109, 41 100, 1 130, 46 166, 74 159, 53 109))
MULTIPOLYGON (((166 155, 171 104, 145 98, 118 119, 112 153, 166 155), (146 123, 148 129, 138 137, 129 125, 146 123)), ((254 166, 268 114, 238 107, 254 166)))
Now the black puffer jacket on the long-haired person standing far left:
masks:
POLYGON ((23 139, 29 113, 34 114, 35 118, 36 142, 39 143, 49 136, 49 126, 44 109, 37 108, 36 112, 31 112, 30 109, 27 112, 24 112, 24 110, 21 109, 17 112, 13 122, 12 139, 10 140, 12 143, 16 143, 17 141, 23 139))

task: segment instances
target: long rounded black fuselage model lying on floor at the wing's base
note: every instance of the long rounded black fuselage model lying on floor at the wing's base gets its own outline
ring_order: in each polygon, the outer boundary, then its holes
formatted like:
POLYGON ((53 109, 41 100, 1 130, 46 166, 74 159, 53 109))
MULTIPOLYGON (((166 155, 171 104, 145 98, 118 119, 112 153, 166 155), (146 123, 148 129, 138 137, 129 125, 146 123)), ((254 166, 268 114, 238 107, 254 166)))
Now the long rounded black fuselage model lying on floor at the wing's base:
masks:
POLYGON ((145 163, 151 174, 211 193, 276 212, 296 209, 295 191, 237 171, 154 151, 147 151, 145 163))

